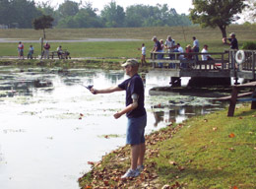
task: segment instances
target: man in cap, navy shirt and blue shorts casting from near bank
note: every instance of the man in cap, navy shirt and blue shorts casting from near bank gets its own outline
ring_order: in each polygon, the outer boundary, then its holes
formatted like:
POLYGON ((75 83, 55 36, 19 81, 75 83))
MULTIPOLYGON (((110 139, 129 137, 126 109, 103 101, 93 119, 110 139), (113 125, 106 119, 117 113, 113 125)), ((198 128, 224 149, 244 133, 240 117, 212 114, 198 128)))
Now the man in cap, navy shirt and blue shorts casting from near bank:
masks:
POLYGON ((92 94, 110 94, 126 91, 126 107, 114 114, 118 119, 126 113, 128 118, 126 131, 126 144, 131 145, 131 166, 121 178, 136 177, 143 170, 145 155, 145 127, 147 125, 147 113, 144 107, 144 85, 138 75, 139 63, 135 59, 128 59, 124 64, 125 72, 129 79, 116 87, 102 90, 91 89, 92 94))

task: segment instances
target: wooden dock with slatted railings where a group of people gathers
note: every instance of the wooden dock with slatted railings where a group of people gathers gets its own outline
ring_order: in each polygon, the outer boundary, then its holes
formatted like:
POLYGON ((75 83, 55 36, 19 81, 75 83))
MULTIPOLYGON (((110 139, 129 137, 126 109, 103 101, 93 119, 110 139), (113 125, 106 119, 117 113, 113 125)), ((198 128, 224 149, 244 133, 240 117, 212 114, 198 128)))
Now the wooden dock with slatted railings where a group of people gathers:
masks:
POLYGON ((236 50, 224 52, 208 52, 213 60, 202 61, 204 53, 180 53, 180 52, 152 52, 149 62, 152 64, 152 72, 161 72, 170 78, 244 78, 256 80, 256 51, 244 50, 244 62, 238 64, 235 55, 236 50), (161 59, 158 59, 158 56, 161 59), (179 58, 180 56, 192 56, 192 59, 179 58), (199 60, 196 59, 198 56, 199 60), (171 58, 170 58, 171 57, 171 58))

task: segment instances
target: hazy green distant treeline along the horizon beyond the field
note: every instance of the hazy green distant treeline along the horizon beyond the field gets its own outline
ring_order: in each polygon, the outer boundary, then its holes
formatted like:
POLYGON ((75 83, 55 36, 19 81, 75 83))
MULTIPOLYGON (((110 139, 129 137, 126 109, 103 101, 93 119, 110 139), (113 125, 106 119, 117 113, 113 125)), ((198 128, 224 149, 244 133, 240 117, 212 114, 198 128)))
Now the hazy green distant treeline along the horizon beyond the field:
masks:
POLYGON ((53 27, 62 29, 78 28, 139 28, 173 27, 192 25, 188 16, 177 14, 167 4, 149 6, 132 5, 123 7, 111 1, 100 13, 92 3, 77 3, 65 0, 58 7, 47 2, 35 3, 33 0, 1 0, 0 25, 9 28, 31 29, 32 20, 41 15, 54 18, 53 27))

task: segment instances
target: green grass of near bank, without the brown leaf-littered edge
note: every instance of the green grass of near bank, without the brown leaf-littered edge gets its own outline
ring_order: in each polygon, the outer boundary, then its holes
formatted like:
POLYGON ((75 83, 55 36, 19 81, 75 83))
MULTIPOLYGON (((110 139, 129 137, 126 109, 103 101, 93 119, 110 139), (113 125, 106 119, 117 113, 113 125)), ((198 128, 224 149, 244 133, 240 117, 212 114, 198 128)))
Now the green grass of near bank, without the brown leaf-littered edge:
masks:
POLYGON ((243 107, 234 117, 222 111, 187 121, 172 140, 159 145, 160 158, 154 160, 160 182, 188 183, 188 188, 256 188, 255 113, 243 107), (230 133, 235 137, 229 138, 230 133), (185 170, 170 166, 165 157, 185 170))

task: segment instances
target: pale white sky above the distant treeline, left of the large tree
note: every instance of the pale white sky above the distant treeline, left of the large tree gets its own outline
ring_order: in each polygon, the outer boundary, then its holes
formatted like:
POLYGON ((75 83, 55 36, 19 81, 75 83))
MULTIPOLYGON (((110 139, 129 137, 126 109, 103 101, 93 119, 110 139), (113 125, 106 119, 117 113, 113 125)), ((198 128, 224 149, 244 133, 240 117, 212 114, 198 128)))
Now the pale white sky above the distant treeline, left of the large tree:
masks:
MULTIPOLYGON (((35 2, 51 2, 51 6, 62 4, 64 0, 34 0, 35 2)), ((80 2, 80 0, 72 0, 80 2)), ((97 8, 99 11, 103 9, 105 5, 108 5, 111 0, 82 0, 82 2, 90 2, 93 4, 93 8, 97 8)), ((152 5, 156 6, 167 4, 168 8, 174 8, 178 14, 188 14, 189 8, 192 8, 192 0, 115 0, 116 4, 123 7, 124 9, 130 5, 152 5)))

